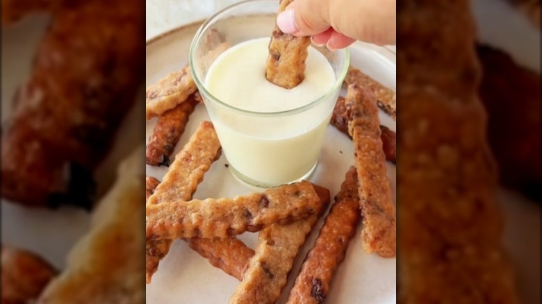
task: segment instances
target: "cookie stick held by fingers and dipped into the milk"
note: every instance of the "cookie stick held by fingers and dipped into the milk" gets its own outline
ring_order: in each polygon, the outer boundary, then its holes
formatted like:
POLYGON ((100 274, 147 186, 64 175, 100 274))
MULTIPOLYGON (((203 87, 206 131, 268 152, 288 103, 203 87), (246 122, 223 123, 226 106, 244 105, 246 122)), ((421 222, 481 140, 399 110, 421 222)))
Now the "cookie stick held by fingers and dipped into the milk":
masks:
MULTIPOLYGON (((281 0, 279 12, 294 0, 281 0)), ((291 89, 305 78, 305 60, 308 55, 309 37, 295 37, 282 33, 275 24, 271 41, 265 78, 286 89, 291 89)))

